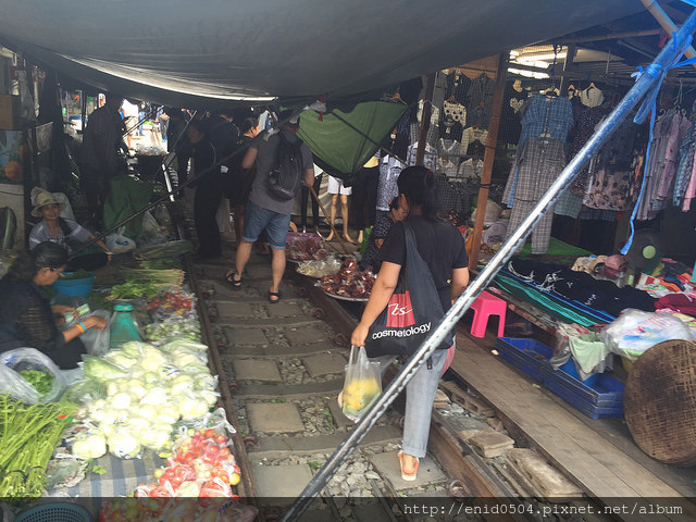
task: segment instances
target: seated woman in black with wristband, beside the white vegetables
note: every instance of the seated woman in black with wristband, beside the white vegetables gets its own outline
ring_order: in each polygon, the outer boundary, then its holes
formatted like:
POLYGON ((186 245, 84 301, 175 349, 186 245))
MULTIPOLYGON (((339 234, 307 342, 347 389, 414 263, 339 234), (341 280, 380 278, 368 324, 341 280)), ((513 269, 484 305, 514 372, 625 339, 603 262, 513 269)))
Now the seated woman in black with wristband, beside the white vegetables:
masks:
POLYGON ((67 251, 45 241, 22 252, 0 279, 0 351, 36 348, 63 370, 77 368, 86 352, 79 335, 89 328, 103 330, 107 320, 90 315, 64 332, 55 314, 75 313, 73 307, 50 304, 39 286, 52 285, 63 273, 67 251))

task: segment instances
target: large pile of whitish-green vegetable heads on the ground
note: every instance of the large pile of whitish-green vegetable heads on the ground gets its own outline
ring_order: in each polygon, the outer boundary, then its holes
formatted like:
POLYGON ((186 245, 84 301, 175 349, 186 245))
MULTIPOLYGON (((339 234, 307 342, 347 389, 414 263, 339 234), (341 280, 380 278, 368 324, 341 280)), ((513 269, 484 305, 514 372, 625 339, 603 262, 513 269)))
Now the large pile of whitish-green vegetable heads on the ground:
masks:
POLYGON ((170 338, 159 348, 132 341, 101 358, 85 356, 87 382, 69 393, 86 407, 94 425, 76 438, 73 453, 97 458, 108 446, 112 455, 129 459, 144 447, 169 448, 179 419, 201 418, 217 400, 207 349, 170 338))

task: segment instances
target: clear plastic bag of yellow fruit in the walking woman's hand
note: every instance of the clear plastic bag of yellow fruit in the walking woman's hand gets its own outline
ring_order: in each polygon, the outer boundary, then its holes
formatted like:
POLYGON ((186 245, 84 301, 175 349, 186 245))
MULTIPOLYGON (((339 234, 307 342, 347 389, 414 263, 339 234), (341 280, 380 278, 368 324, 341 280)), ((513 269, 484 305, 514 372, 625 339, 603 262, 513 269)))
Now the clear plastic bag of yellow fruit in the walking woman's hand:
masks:
POLYGON ((370 362, 364 346, 350 348, 340 408, 351 421, 358 421, 382 394, 380 363, 370 362))

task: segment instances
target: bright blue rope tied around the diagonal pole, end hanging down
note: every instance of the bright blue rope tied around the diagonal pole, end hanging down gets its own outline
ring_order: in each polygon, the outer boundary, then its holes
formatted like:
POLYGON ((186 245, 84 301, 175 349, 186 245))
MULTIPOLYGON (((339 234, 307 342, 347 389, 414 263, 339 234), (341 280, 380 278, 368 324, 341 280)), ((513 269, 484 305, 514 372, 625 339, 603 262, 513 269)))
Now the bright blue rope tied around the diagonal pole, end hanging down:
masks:
MULTIPOLYGON (((696 0, 693 0, 693 1, 696 3, 696 0)), ((638 192, 638 199, 636 200, 635 207, 633 208, 633 212, 631 213, 631 221, 629 221, 629 227, 631 229, 631 233, 629 235, 629 239, 626 240, 626 244, 621 249, 621 253, 624 256, 629 252, 629 249, 633 244, 633 236, 635 234, 635 225, 634 225, 635 216, 638 213, 638 208, 641 207, 641 201, 643 200, 643 194, 645 191, 648 165, 650 164, 650 147, 652 146, 652 130, 655 129, 655 117, 657 113, 657 96, 660 92, 660 89, 662 88, 662 82, 664 80, 664 76, 667 76, 667 73, 669 72, 670 69, 676 69, 684 65, 691 65, 693 63, 696 63, 696 58, 678 62, 679 59, 682 57, 682 54, 684 54, 684 51, 688 48, 688 46, 692 45, 692 38, 693 38, 692 35, 686 35, 684 37, 684 41, 682 41, 680 45, 679 44, 679 40, 681 39, 680 34, 672 33, 672 39, 670 40, 669 45, 674 48, 674 59, 672 60, 671 64, 668 66, 661 66, 656 63, 651 63, 645 70, 638 66, 637 67, 638 71, 631 75, 635 77, 636 82, 644 74, 647 74, 648 76, 652 76, 654 78, 659 78, 659 79, 650 88, 650 90, 645 95, 645 99, 643 100, 643 103, 638 108, 638 112, 633 119, 633 121, 639 125, 645 122, 645 120, 649 114, 650 130, 648 136, 648 147, 645 152, 645 164, 643 165, 643 181, 641 182, 641 191, 638 192)))

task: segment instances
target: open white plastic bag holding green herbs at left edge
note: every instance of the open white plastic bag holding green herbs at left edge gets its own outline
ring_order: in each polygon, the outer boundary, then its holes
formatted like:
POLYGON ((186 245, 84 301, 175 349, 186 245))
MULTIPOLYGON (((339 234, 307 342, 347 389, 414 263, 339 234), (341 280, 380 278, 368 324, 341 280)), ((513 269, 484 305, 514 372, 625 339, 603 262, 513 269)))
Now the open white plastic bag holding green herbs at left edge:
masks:
POLYGON ((51 358, 36 348, 17 348, 0 353, 0 393, 35 405, 54 402, 67 388, 61 370, 51 358), (53 374, 50 391, 44 397, 21 374, 22 370, 38 370, 53 374))

